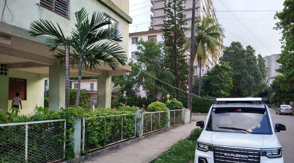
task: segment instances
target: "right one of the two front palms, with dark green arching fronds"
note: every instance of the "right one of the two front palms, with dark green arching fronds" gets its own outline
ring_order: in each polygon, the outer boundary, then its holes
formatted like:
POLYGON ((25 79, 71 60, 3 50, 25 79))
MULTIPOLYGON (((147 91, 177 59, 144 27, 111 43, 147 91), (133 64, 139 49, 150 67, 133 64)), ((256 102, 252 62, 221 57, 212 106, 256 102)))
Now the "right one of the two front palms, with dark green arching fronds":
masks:
POLYGON ((77 23, 72 31, 71 46, 74 48, 72 57, 76 60, 78 72, 77 100, 79 106, 82 66, 96 68, 100 62, 104 62, 115 70, 119 64, 126 65, 127 55, 123 47, 114 42, 121 42, 121 34, 116 28, 103 28, 111 24, 111 20, 103 12, 94 12, 91 19, 85 8, 74 13, 77 23), (112 40, 112 41, 111 41, 112 40))

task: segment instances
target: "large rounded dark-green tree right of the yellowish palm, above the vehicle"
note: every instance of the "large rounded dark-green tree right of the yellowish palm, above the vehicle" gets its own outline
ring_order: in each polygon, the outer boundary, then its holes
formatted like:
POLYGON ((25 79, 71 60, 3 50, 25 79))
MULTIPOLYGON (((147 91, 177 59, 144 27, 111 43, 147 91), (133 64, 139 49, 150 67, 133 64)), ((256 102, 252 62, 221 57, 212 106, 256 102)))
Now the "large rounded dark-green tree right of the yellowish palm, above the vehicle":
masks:
POLYGON ((230 91, 232 97, 254 96, 266 87, 265 61, 251 46, 243 48, 240 42, 232 42, 224 50, 222 62, 229 62, 233 73, 233 89, 230 91))

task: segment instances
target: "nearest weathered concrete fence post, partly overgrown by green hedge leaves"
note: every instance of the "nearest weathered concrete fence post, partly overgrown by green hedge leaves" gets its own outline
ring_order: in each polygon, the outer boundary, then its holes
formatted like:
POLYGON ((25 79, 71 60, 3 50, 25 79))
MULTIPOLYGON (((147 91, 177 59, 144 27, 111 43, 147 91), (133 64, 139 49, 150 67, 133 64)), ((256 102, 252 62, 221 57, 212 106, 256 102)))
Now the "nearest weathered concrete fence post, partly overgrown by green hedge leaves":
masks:
POLYGON ((71 119, 74 123, 74 131, 72 133, 73 138, 71 143, 74 144, 74 155, 75 158, 81 157, 81 115, 75 117, 72 116, 71 119))

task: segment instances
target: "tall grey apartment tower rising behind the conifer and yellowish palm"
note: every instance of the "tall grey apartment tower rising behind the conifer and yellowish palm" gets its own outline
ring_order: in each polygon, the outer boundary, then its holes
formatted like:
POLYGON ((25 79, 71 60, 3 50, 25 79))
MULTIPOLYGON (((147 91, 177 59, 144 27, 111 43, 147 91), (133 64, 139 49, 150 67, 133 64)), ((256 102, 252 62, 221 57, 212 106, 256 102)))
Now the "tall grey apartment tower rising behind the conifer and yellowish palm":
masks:
MULTIPOLYGON (((164 25, 164 19, 166 19, 166 14, 164 14, 164 3, 167 0, 151 0, 153 6, 151 6, 150 10, 153 12, 153 15, 150 15, 151 21, 150 26, 151 28, 157 30, 161 29, 164 25)), ((192 20, 192 2, 193 0, 182 0, 184 6, 184 13, 186 14, 186 31, 185 35, 187 38, 191 37, 191 31, 189 28, 191 27, 191 20, 192 20)), ((195 17, 207 17, 211 16, 215 20, 215 24, 218 24, 218 20, 216 17, 215 8, 213 7, 212 0, 196 0, 196 7, 195 7, 195 17)), ((207 54, 207 61, 205 65, 202 65, 202 76, 208 70, 212 69, 215 64, 219 62, 219 58, 222 56, 222 51, 218 54, 217 59, 213 59, 211 54, 207 54)), ((194 77, 199 76, 199 65, 194 62, 194 77)))

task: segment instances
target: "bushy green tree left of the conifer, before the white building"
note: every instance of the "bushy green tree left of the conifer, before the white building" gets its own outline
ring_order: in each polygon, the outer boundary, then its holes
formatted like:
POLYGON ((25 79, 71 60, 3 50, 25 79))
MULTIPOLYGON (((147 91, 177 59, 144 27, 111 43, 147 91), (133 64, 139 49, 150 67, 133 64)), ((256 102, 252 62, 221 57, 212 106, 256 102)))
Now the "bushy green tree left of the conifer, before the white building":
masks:
POLYGON ((130 74, 127 76, 117 76, 114 79, 115 87, 119 87, 119 94, 123 94, 126 91, 126 95, 134 95, 132 91, 134 85, 136 87, 142 86, 145 91, 148 91, 156 99, 158 93, 169 94, 174 92, 172 87, 154 78, 156 77, 168 84, 172 84, 175 80, 172 73, 164 69, 164 54, 161 43, 156 43, 153 39, 150 41, 141 39, 137 42, 135 54, 137 56, 136 62, 130 61, 129 63, 132 66, 130 74))

